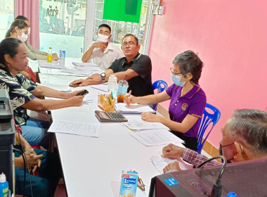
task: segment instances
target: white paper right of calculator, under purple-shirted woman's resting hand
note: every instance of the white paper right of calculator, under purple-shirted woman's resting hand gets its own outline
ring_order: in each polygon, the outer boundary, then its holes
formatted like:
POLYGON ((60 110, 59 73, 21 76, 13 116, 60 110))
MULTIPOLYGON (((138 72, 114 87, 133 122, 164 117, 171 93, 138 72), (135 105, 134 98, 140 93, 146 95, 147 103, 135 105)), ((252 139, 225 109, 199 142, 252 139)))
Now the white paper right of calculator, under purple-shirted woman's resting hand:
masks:
POLYGON ((131 130, 168 129, 159 122, 145 122, 141 119, 141 115, 127 115, 126 118, 128 122, 122 122, 122 124, 131 130))

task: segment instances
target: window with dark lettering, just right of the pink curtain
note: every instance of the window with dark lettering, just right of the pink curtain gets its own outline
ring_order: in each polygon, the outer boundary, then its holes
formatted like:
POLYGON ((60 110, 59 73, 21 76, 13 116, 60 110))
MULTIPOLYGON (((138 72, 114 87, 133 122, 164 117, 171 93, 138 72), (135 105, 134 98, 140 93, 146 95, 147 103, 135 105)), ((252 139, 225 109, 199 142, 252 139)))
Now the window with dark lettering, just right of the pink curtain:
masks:
POLYGON ((51 46, 58 54, 65 50, 67 57, 82 57, 86 6, 86 0, 40 0, 40 50, 51 46))

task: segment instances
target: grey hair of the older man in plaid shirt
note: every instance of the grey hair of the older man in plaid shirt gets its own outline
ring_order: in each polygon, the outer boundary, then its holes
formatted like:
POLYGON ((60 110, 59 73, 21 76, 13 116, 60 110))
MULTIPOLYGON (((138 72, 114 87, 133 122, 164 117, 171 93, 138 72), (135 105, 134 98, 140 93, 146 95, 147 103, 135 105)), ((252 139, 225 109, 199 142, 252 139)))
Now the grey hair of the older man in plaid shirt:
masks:
POLYGON ((267 153, 267 113, 261 110, 240 109, 233 111, 228 134, 242 142, 255 156, 267 153))

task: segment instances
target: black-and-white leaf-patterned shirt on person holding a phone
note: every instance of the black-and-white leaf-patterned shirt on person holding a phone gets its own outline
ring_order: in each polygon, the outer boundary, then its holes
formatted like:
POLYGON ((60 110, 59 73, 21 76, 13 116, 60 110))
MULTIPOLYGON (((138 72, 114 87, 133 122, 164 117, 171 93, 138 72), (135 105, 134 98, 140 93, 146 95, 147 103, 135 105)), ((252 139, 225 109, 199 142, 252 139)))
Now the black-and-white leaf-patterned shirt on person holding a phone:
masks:
POLYGON ((21 106, 35 98, 31 92, 34 91, 36 87, 37 84, 27 80, 20 72, 13 77, 6 66, 0 64, 0 88, 7 89, 8 91, 11 108, 15 117, 15 124, 26 124, 28 118, 27 111, 21 106))

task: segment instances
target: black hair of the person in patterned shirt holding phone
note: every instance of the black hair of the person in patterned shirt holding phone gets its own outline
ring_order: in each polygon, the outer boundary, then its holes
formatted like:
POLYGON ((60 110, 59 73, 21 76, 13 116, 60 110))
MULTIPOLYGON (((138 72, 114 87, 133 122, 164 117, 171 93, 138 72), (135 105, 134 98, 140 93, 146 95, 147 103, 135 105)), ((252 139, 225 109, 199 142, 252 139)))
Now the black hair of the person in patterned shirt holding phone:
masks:
POLYGON ((6 65, 4 56, 8 54, 13 58, 18 53, 18 46, 22 44, 19 39, 5 38, 0 43, 0 63, 6 65))

